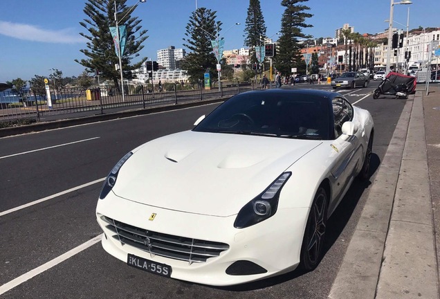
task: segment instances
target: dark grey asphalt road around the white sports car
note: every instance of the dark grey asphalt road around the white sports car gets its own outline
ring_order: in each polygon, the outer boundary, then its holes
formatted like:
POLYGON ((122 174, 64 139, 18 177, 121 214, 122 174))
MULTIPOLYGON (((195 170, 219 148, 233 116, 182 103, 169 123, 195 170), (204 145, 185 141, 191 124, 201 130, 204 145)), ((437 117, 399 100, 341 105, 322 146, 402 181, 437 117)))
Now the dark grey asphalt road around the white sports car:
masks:
MULTIPOLYGON (((372 81, 366 89, 338 90, 372 113, 374 171, 405 105, 405 100, 394 98, 373 100, 376 85, 372 81)), ((297 87, 331 89, 316 84, 297 87)), ((95 205, 111 167, 142 143, 191 129, 214 107, 0 138, 0 298, 327 298, 369 182, 354 183, 329 219, 324 259, 310 273, 293 271, 238 287, 213 288, 131 268, 97 242, 102 232, 95 205), (38 200, 42 201, 35 203, 38 200), (23 206, 28 203, 35 204, 23 206)))

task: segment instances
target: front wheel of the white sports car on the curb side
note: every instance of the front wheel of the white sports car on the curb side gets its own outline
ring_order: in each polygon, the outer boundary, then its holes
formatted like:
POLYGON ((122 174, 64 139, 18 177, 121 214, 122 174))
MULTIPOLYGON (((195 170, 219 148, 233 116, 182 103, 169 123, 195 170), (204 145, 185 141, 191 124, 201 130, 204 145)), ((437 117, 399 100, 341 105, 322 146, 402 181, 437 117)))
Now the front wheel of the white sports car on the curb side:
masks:
POLYGON ((304 271, 313 271, 322 260, 328 206, 327 192, 320 186, 313 199, 302 239, 300 267, 304 271))

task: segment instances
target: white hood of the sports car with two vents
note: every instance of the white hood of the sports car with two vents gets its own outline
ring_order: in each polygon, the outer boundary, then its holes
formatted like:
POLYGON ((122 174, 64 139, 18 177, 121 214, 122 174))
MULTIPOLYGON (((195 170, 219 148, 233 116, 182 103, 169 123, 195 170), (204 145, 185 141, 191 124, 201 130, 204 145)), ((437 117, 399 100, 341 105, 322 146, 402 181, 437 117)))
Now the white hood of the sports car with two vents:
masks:
POLYGON ((172 134, 134 150, 113 192, 158 208, 227 217, 321 144, 237 134, 172 134))

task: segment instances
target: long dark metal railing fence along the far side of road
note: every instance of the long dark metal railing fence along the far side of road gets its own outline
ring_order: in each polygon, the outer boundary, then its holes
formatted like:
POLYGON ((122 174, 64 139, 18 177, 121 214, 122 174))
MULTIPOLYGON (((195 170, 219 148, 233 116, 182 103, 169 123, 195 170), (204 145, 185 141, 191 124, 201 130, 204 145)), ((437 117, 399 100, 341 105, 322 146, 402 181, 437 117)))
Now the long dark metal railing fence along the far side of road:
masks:
MULTIPOLYGON (((35 118, 57 114, 77 114, 120 107, 147 108, 155 105, 175 105, 182 102, 230 97, 255 89, 255 83, 222 82, 205 89, 200 84, 163 83, 138 84, 124 87, 125 95, 117 89, 57 89, 51 91, 51 100, 32 91, 21 95, 11 91, 0 92, 0 121, 35 118)), ((259 87, 258 87, 259 88, 259 87)))

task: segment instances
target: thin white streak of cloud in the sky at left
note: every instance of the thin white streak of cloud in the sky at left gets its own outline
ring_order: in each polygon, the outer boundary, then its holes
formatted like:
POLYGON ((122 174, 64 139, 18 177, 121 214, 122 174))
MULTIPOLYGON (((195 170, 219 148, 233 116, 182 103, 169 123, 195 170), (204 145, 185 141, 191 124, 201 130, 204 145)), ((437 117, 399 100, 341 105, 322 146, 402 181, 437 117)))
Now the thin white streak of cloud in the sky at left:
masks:
POLYGON ((32 42, 53 44, 75 44, 84 42, 84 37, 74 33, 71 29, 46 30, 28 24, 0 21, 0 35, 32 42))

